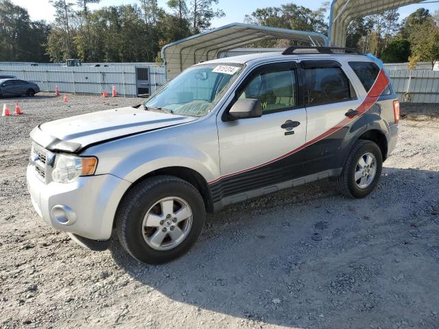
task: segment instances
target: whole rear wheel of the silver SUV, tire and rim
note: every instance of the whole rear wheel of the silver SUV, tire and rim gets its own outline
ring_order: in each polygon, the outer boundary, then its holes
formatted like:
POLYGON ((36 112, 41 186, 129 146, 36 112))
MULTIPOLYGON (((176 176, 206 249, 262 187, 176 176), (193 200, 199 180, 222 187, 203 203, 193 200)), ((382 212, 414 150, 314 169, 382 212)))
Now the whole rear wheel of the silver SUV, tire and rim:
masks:
POLYGON ((360 139, 353 145, 342 175, 335 180, 335 188, 346 197, 366 197, 377 186, 382 169, 383 155, 377 143, 360 139))

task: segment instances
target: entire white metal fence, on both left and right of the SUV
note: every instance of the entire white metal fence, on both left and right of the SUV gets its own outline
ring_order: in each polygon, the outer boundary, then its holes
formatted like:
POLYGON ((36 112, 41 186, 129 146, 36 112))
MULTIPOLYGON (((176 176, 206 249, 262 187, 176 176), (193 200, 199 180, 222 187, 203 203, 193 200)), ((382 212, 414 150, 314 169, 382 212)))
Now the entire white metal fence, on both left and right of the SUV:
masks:
MULTIPOLYGON (((140 86, 137 68, 148 68, 147 88, 154 93, 166 82, 165 68, 154 63, 123 63, 109 66, 56 66, 0 63, 0 74, 16 75, 19 79, 38 84, 41 90, 54 92, 55 86, 62 93, 100 94, 111 93, 115 85, 118 95, 135 96, 140 86)), ((394 90, 401 101, 412 103, 439 103, 439 71, 431 71, 431 64, 419 63, 414 71, 406 63, 385 64, 394 90), (426 68, 429 65, 428 69, 426 68)))

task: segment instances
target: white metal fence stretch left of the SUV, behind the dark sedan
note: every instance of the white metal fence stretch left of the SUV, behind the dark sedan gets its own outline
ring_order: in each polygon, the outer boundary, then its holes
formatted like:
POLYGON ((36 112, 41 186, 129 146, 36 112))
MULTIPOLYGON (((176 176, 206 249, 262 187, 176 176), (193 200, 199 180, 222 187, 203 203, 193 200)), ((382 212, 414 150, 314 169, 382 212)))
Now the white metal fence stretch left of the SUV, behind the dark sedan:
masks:
POLYGON ((54 92, 55 86, 61 93, 100 94, 111 93, 114 85, 118 95, 135 96, 139 88, 146 87, 149 93, 166 82, 165 69, 156 64, 122 64, 104 66, 49 66, 49 65, 5 65, 0 63, 0 74, 15 75, 19 79, 35 82, 40 90, 54 92), (148 68, 147 84, 139 84, 137 69, 148 68))

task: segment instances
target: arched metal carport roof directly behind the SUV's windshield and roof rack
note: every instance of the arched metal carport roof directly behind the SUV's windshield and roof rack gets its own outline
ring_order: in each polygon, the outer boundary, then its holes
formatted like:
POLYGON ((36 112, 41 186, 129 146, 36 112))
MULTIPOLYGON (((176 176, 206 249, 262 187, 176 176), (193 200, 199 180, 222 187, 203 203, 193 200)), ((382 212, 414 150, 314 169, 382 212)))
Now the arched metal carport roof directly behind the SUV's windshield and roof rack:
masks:
POLYGON ((193 64, 217 58, 220 52, 270 39, 297 40, 317 46, 328 42, 327 36, 316 32, 231 23, 165 45, 162 58, 167 80, 193 64))

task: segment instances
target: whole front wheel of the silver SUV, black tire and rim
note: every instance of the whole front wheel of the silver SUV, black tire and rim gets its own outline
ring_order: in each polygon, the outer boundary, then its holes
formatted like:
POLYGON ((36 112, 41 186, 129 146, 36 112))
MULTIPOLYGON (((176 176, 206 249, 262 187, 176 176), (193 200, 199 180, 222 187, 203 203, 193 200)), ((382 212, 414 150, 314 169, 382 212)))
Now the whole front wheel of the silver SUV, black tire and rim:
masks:
POLYGON ((197 241, 206 210, 198 190, 180 178, 160 175, 134 186, 116 215, 121 245, 142 263, 161 264, 185 254, 197 241))

